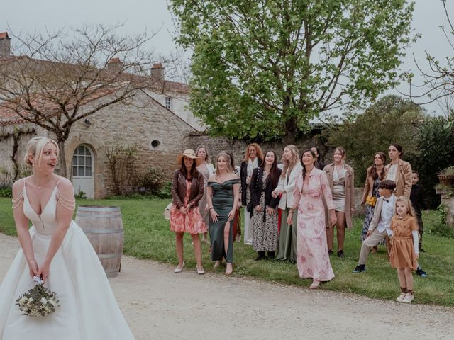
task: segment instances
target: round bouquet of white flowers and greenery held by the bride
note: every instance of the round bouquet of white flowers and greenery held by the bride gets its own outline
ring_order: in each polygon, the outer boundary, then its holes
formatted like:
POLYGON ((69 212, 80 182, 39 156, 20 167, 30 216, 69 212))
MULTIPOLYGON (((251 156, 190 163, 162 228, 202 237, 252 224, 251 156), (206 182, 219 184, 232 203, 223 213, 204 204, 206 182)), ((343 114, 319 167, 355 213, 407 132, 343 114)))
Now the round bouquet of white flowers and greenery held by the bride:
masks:
POLYGON ((35 282, 35 287, 19 296, 16 306, 23 312, 23 315, 29 317, 44 317, 55 312, 55 307, 60 306, 57 294, 45 288, 44 281, 40 278, 35 276, 33 282, 35 282))

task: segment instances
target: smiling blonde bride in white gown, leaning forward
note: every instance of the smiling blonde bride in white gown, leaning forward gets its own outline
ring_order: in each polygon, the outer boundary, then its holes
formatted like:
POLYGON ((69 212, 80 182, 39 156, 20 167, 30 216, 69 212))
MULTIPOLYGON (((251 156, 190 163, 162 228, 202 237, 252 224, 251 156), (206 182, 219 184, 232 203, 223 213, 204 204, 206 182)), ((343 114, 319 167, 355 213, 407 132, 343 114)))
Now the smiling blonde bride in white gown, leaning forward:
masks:
POLYGON ((13 185, 21 250, 0 285, 0 339, 134 339, 92 245, 72 220, 74 189, 54 174, 57 155, 56 142, 34 137, 26 155, 33 175, 13 185), (45 317, 22 315, 15 305, 33 276, 42 276, 60 300, 45 317))

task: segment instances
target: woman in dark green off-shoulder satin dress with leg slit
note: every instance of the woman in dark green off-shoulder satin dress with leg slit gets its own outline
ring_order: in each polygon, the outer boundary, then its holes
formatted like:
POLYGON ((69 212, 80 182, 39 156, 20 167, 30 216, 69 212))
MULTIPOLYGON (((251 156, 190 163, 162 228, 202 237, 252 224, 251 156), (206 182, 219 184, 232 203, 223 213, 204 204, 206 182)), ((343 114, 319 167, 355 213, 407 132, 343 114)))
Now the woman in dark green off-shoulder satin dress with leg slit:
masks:
POLYGON ((233 272, 233 225, 240 197, 240 181, 231 169, 230 156, 225 152, 216 158, 216 171, 208 179, 206 202, 210 210, 209 232, 211 260, 218 267, 226 258, 226 275, 233 272))

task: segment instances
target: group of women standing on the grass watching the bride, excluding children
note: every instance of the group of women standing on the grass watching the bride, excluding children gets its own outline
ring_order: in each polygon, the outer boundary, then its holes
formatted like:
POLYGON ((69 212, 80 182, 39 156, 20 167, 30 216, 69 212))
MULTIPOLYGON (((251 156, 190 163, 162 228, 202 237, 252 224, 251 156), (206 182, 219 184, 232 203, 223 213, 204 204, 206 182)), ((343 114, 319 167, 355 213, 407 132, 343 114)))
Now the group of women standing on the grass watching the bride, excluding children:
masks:
MULTIPOLYGON (((297 263, 299 276, 313 279, 311 288, 331 280, 334 274, 329 256, 333 254, 334 229, 337 256, 342 258, 345 229, 352 227, 355 210, 355 174, 345 163, 345 156, 345 149, 336 147, 333 162, 325 166, 316 147, 305 149, 300 157, 297 147, 287 145, 282 164, 278 165, 274 151, 263 153, 258 144, 252 143, 245 149, 238 171, 228 152, 218 154, 212 166, 206 147, 196 152, 185 150, 177 159, 179 169, 172 185, 175 206, 171 210, 171 229, 177 234, 179 259, 175 272, 184 267, 182 232, 189 232, 197 272, 204 273, 198 235, 209 230, 211 260, 218 267, 225 259, 226 274, 231 274, 233 241, 240 234, 239 208, 243 206, 244 243, 257 251, 257 261, 297 263)), ((411 166, 401 156, 402 147, 391 145, 391 163, 385 166, 385 155, 377 152, 367 169, 362 198, 367 206, 366 232, 382 179, 397 183, 397 195, 409 196, 411 166)))

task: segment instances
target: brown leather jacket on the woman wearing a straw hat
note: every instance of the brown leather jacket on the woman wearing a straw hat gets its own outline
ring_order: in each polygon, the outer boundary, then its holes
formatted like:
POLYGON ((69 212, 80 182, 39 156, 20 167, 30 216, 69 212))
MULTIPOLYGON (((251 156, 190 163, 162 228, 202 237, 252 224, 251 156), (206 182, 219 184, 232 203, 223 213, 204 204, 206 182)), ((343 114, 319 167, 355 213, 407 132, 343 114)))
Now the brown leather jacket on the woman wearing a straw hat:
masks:
MULTIPOLYGON (((204 175, 197 171, 191 181, 191 192, 189 193, 188 205, 191 208, 199 206, 199 200, 204 196, 204 175)), ((179 169, 175 170, 172 181, 172 203, 180 208, 184 206, 186 197, 186 178, 179 169)))

